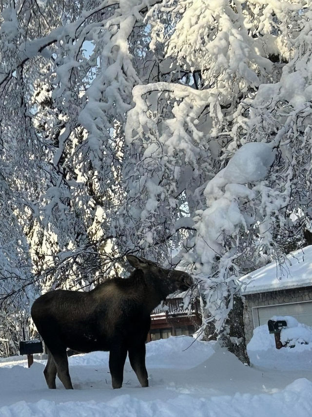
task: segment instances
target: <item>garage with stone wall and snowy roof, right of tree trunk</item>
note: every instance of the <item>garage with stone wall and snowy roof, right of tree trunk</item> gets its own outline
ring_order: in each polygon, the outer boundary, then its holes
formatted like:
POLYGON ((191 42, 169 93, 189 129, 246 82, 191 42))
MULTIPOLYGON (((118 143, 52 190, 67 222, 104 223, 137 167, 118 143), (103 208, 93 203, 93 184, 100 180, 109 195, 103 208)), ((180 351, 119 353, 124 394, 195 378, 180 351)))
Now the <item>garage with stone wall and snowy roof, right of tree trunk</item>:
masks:
POLYGON ((292 316, 312 326, 312 245, 269 263, 238 280, 244 300, 246 342, 273 316, 292 316))

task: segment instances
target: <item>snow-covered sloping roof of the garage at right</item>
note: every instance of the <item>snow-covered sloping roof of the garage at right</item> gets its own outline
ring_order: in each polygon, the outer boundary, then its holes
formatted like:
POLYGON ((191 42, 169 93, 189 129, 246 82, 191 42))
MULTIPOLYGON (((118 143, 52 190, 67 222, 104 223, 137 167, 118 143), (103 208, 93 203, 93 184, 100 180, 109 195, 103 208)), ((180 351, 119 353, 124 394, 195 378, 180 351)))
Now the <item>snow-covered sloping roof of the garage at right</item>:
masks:
POLYGON ((278 291, 312 285, 312 245, 287 255, 287 261, 281 265, 268 263, 250 274, 239 278, 241 293, 278 291))

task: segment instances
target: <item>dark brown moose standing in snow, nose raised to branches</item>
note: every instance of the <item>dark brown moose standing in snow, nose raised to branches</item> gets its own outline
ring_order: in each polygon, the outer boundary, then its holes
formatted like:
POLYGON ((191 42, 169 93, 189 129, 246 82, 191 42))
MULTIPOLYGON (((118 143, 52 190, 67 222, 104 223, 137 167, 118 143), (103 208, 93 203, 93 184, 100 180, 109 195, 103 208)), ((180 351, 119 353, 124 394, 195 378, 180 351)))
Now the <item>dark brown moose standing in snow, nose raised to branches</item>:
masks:
POLYGON ((112 278, 91 291, 53 290, 41 295, 31 308, 32 319, 47 347, 43 371, 49 388, 56 375, 73 389, 67 348, 87 353, 109 351, 113 388, 120 388, 127 353, 142 387, 148 387, 145 342, 150 313, 167 295, 193 285, 183 271, 165 269, 152 261, 127 255, 135 268, 129 278, 112 278))

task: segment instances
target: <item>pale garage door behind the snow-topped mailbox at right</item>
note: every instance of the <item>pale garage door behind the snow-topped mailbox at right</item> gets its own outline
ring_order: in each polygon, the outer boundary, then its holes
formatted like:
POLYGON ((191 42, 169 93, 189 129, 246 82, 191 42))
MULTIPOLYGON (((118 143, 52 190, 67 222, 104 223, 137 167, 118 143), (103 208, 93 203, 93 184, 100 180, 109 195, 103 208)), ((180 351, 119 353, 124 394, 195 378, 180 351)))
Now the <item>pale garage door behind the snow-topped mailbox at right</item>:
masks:
POLYGON ((267 324, 273 316, 292 316, 299 323, 312 326, 312 301, 253 307, 254 328, 267 324))

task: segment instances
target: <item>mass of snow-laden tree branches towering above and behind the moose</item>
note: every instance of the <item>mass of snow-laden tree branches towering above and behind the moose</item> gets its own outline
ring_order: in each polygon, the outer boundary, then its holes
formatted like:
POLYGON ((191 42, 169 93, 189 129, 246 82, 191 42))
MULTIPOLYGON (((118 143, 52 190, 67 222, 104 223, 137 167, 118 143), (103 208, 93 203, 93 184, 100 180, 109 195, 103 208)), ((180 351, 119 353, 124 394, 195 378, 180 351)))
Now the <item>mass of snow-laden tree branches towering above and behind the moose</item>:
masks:
POLYGON ((311 229, 311 6, 2 1, 0 227, 25 284, 89 286, 128 252, 179 265, 244 353, 236 278, 311 229))

